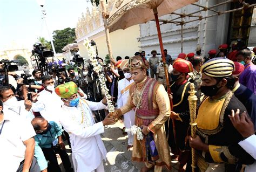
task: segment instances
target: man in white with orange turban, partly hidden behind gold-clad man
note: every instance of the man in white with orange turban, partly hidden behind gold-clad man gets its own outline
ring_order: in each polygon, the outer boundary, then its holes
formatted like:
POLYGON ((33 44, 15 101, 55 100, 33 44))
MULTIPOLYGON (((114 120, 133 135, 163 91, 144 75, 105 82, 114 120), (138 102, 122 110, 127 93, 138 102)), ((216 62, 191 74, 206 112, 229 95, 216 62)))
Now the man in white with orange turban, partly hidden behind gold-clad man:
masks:
MULTIPOLYGON (((125 78, 118 81, 118 98, 117 98, 117 108, 123 107, 129 97, 129 88, 133 84, 132 75, 130 69, 128 68, 128 59, 123 60, 120 64, 120 68, 123 70, 125 78)), ((131 111, 124 114, 124 126, 126 129, 130 129, 134 125, 135 112, 131 111)), ((128 146, 129 150, 133 146, 133 135, 131 132, 127 132, 128 135, 128 146)))

